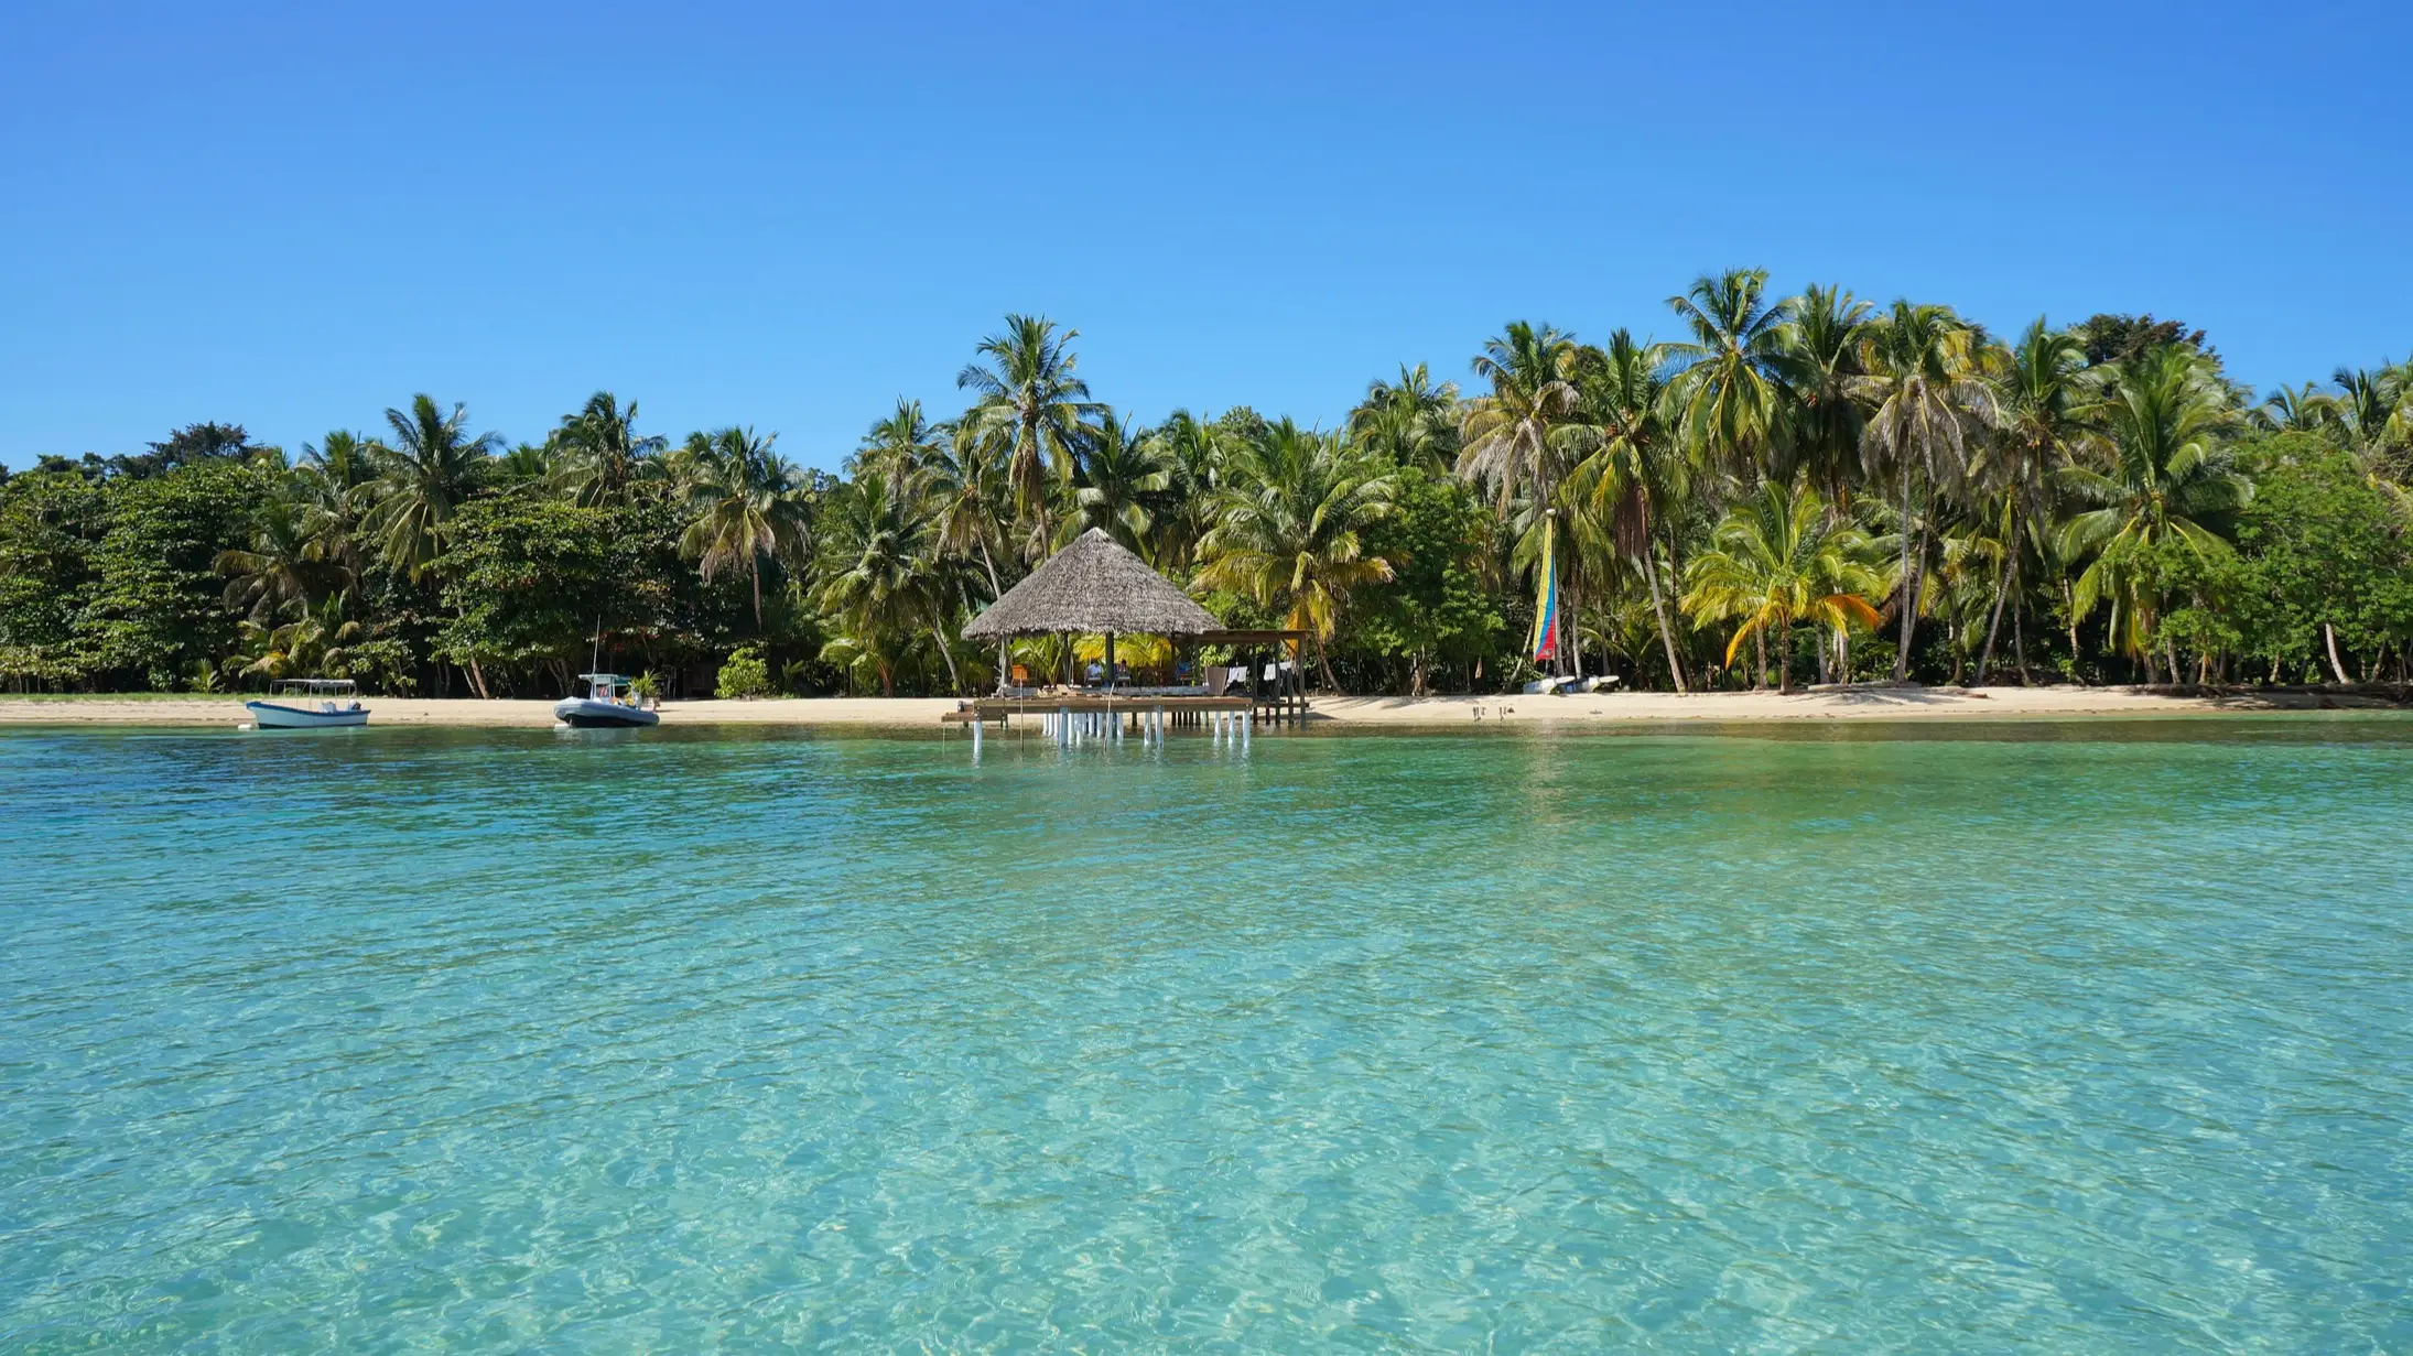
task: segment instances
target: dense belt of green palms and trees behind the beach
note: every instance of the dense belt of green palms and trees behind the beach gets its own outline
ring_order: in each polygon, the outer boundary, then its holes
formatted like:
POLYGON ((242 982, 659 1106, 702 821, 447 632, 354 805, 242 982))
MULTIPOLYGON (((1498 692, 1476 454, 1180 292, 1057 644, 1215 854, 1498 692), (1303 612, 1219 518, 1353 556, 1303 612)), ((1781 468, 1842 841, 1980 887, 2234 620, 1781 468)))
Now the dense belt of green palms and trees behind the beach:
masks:
POLYGON ((690 697, 972 692, 1064 664, 960 630, 1088 528, 1303 630, 1332 690, 2408 678, 2413 360, 2256 396, 2177 321, 2003 338, 1759 270, 1658 321, 1508 321, 1462 381, 1400 364, 1310 427, 1146 422, 1079 331, 1006 316, 960 413, 898 401, 811 449, 837 473, 610 391, 521 444, 425 393, 299 454, 198 422, 0 473, 0 685, 531 697, 601 659, 690 697))

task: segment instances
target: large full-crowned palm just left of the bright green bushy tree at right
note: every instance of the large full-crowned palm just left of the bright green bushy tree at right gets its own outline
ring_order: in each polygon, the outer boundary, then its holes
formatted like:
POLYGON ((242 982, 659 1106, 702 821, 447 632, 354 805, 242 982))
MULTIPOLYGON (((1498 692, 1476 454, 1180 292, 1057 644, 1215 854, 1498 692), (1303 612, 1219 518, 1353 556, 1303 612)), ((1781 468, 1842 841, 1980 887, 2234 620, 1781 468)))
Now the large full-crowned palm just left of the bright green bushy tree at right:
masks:
MULTIPOLYGON (((2162 345, 2114 367, 2114 381, 2090 408, 2102 427, 2109 463, 2063 466, 2056 483, 2094 504, 2061 524, 2063 555, 2092 557, 2073 586, 2073 620, 2111 601, 2111 642, 2145 661, 2152 678, 2152 627, 2160 598, 2148 555, 2179 543, 2196 557, 2230 550, 2215 531, 2220 516, 2254 497, 2234 470, 2222 439, 2237 408, 2213 362, 2191 345, 2162 345)), ((2177 656, 2169 656, 2177 680, 2177 656)))

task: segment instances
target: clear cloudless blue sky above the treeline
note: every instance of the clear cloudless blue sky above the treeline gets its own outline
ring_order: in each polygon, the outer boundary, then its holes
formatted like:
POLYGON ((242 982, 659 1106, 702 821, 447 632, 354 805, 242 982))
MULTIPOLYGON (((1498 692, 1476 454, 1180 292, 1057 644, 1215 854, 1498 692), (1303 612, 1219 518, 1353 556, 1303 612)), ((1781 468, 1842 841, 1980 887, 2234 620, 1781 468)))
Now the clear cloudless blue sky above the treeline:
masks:
POLYGON ((685 10, 10 5, 0 463, 610 388, 835 466, 1006 311, 1144 420, 1332 425, 1728 265, 2413 350, 2394 5, 685 10))

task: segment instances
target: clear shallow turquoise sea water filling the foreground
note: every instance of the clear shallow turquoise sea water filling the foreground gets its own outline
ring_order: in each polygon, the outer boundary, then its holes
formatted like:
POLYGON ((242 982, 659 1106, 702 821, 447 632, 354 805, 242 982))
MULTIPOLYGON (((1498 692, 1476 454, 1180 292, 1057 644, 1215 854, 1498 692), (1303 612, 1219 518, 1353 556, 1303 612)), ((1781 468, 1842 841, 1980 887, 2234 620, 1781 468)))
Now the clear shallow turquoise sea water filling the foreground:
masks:
POLYGON ((2413 724, 0 733, 0 1349, 2413 1349, 2413 724))

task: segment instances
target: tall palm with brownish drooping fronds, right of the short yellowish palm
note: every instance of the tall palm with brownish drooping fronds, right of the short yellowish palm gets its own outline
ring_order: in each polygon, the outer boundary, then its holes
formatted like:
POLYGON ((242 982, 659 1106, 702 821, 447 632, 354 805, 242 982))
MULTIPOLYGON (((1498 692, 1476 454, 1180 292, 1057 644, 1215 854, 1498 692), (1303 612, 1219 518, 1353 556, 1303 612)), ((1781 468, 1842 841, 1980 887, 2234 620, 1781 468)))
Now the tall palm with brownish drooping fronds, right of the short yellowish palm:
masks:
POLYGON ((1947 306, 1894 302, 1870 326, 1860 362, 1868 376, 1853 393, 1875 405, 1860 434, 1870 475, 1887 470, 1901 483, 1901 642, 1894 649, 1894 683, 1911 676, 1911 632, 1918 625, 1921 565, 1928 524, 1916 516, 1921 483, 1930 497, 1959 480, 1969 466, 1969 429, 1993 417, 1993 398, 1981 367, 1983 335, 1947 306))

